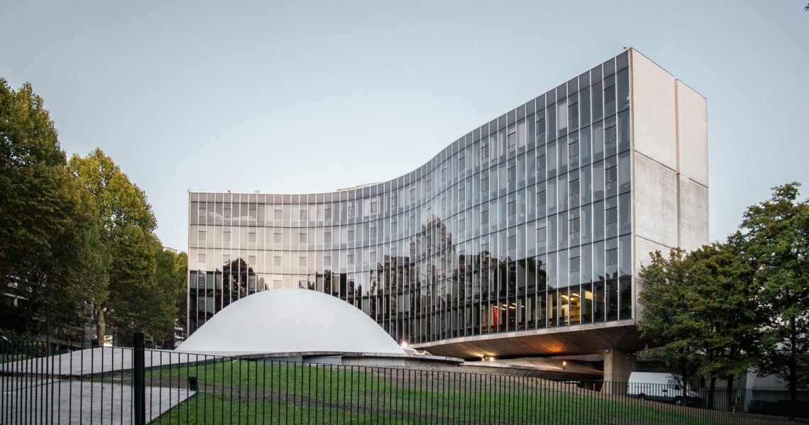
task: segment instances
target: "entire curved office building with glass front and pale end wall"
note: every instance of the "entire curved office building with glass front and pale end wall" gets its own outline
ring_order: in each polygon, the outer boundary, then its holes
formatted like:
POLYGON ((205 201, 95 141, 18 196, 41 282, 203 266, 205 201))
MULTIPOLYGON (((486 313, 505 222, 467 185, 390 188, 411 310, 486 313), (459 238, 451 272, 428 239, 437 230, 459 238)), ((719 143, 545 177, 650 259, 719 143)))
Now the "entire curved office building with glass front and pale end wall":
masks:
POLYGON ((633 351, 648 253, 708 241, 707 153, 705 98, 629 49, 390 181, 190 193, 189 333, 304 287, 434 355, 633 351))

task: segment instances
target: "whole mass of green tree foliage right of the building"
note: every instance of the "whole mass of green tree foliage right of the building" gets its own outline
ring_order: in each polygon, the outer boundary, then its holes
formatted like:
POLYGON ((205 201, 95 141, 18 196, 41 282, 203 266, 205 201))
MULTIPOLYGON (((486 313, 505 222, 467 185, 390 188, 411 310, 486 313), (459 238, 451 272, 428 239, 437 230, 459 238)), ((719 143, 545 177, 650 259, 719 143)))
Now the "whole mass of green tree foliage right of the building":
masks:
POLYGON ((797 199, 797 183, 773 188, 725 243, 651 254, 638 329, 654 357, 712 387, 754 366, 785 380, 795 402, 809 385, 809 204, 797 199))

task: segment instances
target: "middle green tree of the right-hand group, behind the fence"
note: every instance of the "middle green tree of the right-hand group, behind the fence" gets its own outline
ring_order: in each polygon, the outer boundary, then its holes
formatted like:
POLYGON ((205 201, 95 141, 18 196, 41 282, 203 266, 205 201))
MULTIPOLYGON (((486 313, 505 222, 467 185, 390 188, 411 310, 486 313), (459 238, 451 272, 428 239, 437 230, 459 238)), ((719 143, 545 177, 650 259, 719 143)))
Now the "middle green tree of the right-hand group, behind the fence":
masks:
POLYGON ((698 327, 691 341, 705 356, 699 372, 708 376, 708 407, 714 408, 718 378, 726 379, 732 406, 733 377, 746 372, 756 351, 756 297, 751 269, 731 242, 704 245, 688 254, 688 305, 698 327))

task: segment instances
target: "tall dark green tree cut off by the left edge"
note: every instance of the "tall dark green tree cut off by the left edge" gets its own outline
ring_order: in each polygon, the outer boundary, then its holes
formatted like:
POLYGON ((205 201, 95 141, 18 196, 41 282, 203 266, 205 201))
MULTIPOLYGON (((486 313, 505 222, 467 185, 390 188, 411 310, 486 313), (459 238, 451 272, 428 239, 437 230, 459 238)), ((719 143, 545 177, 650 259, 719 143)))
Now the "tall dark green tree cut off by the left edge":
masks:
POLYGON ((50 337, 83 317, 87 295, 99 293, 89 201, 67 172, 42 98, 0 79, 0 278, 19 301, 4 323, 28 334, 44 323, 50 337))

